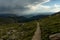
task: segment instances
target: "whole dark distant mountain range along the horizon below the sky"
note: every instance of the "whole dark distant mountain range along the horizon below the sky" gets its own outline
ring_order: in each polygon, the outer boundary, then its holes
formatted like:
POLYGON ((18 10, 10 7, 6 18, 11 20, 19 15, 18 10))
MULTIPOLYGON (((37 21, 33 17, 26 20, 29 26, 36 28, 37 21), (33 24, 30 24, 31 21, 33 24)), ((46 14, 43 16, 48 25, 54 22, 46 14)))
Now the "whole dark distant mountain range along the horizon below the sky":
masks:
POLYGON ((25 16, 18 16, 16 14, 0 14, 0 23, 15 23, 15 22, 18 22, 18 23, 21 23, 21 22, 29 22, 29 21, 34 21, 34 20, 40 20, 42 18, 46 18, 46 17, 49 17, 49 16, 53 16, 53 15, 56 15, 56 14, 59 14, 58 13, 55 13, 55 14, 52 14, 52 15, 43 15, 43 14, 38 14, 38 15, 25 15, 25 16))

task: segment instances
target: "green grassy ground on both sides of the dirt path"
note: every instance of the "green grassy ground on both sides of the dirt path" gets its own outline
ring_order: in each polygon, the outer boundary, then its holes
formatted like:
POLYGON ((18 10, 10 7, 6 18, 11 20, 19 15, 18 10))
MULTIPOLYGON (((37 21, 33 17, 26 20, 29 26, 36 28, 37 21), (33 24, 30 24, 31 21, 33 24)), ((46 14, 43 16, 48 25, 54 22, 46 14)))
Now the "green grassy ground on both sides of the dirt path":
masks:
MULTIPOLYGON (((49 35, 60 32, 60 14, 41 19, 39 22, 42 31, 42 40, 48 40, 49 35)), ((35 21, 12 23, 10 20, 7 23, 0 23, 0 38, 12 40, 15 37, 15 40, 31 40, 35 30, 35 21)))

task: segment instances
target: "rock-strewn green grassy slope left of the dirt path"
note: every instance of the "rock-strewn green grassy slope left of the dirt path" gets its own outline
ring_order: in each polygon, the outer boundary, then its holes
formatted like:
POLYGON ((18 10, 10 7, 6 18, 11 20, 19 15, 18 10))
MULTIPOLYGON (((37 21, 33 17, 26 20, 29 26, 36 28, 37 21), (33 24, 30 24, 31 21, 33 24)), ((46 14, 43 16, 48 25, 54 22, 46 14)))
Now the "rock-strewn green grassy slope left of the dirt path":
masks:
MULTIPOLYGON (((2 19, 3 20, 3 19, 2 19)), ((11 21, 10 21, 11 22, 11 21)), ((27 22, 27 23, 10 23, 6 21, 2 21, 0 23, 0 40, 31 40, 35 30, 36 23, 35 22, 27 22)))

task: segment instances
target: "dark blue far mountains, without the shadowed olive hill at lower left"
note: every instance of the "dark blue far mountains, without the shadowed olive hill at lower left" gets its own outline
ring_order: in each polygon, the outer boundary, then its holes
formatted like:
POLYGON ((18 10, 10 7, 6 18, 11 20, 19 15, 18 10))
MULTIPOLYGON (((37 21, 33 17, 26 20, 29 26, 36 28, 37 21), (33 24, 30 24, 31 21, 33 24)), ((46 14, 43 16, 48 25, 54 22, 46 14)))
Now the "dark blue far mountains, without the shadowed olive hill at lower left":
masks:
POLYGON ((4 18, 9 18, 9 19, 13 19, 14 21, 17 21, 17 22, 28 22, 28 21, 38 20, 38 19, 47 17, 49 15, 39 14, 39 15, 34 15, 34 16, 30 15, 30 16, 31 17, 29 17, 28 15, 18 16, 18 15, 15 15, 15 14, 0 14, 0 18, 3 18, 3 19, 4 18))

